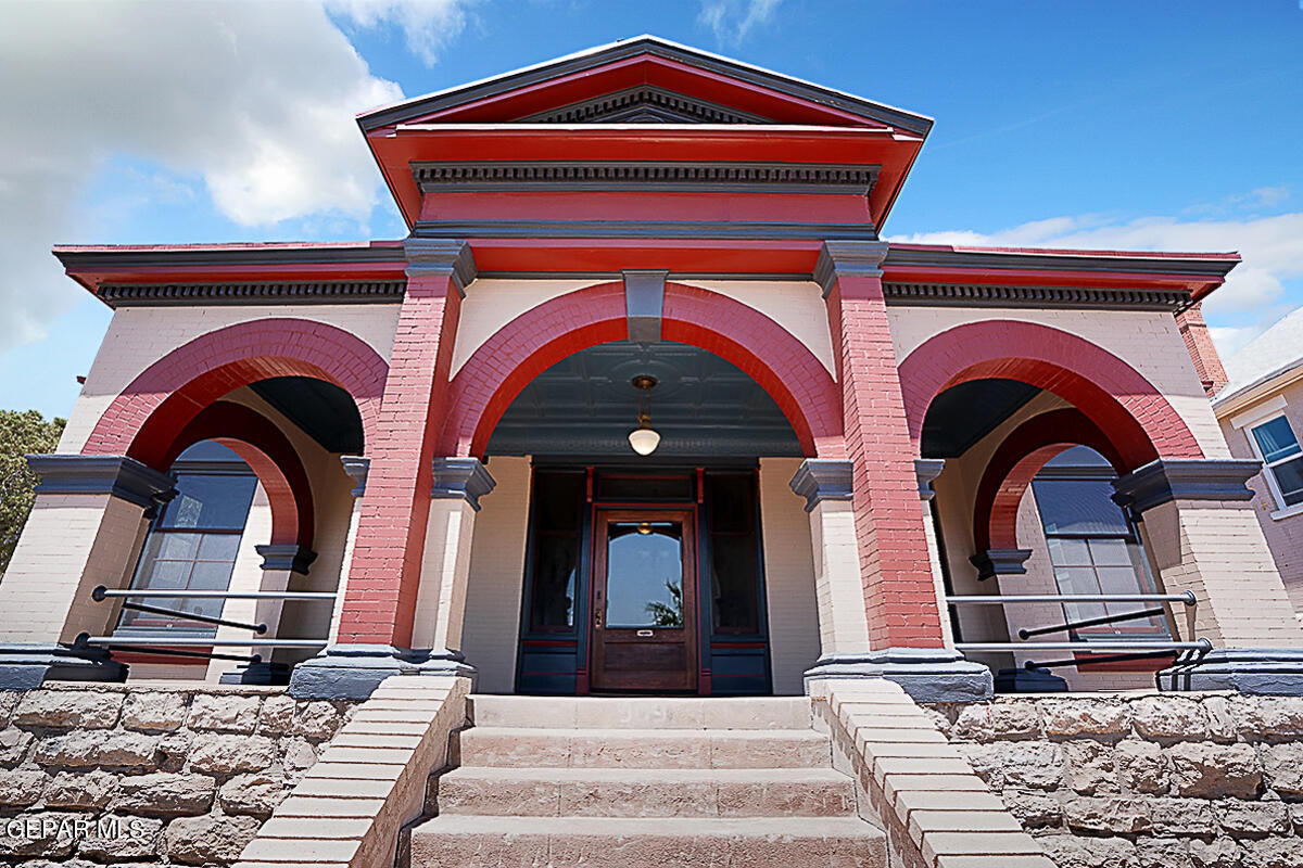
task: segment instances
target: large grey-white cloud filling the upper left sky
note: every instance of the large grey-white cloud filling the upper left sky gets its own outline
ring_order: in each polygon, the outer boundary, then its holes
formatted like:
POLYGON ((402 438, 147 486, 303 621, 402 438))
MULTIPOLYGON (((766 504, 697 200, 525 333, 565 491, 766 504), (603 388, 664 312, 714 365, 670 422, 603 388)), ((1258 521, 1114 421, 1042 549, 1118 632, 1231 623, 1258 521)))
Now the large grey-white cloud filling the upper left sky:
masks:
MULTIPOLYGON (((336 14, 404 26, 433 61, 468 1, 347 0, 336 14)), ((371 74, 322 1, 25 3, 4 13, 0 353, 42 337, 78 301, 50 247, 85 225, 78 199, 111 159, 195 178, 244 226, 364 221, 380 200, 353 118, 403 94, 371 74)))

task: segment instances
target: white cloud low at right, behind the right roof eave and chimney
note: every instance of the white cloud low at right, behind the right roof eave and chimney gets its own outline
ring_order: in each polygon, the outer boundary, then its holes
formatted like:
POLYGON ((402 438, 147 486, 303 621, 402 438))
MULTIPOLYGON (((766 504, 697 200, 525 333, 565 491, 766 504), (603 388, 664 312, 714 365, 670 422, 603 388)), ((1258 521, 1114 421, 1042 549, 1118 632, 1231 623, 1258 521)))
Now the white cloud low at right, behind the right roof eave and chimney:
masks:
MULTIPOLYGON (((1261 198, 1260 194, 1261 191, 1255 191, 1261 198)), ((1204 314, 1210 323, 1217 318, 1261 314, 1282 301, 1287 281, 1303 278, 1303 212, 1246 220, 1183 221, 1175 217, 1141 217, 1126 223, 1087 215, 1037 220, 992 233, 929 232, 894 237, 893 241, 995 247, 1213 252, 1238 250, 1244 262, 1235 267, 1226 284, 1204 303, 1204 314)), ((1222 331, 1224 338, 1239 341, 1243 337, 1234 337, 1235 329, 1224 328, 1227 329, 1222 331)))

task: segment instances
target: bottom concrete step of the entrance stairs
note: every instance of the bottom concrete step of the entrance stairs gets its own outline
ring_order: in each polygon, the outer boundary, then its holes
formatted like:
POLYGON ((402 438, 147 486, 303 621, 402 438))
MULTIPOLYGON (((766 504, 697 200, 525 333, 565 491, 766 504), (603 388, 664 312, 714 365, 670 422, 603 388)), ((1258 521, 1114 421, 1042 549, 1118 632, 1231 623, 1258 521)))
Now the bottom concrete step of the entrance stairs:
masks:
POLYGON ((886 868, 853 817, 614 819, 446 815, 412 830, 412 868, 886 868))

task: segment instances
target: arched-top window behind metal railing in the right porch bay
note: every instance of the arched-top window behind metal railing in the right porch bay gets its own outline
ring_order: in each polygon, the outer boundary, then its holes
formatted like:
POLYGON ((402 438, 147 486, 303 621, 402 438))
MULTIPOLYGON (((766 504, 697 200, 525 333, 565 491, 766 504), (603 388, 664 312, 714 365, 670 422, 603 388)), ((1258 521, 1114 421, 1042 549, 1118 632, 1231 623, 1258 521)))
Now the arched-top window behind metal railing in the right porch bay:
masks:
MULTIPOLYGON (((1078 446, 1050 461, 1032 481, 1059 593, 1154 593, 1135 528, 1113 502, 1114 474, 1095 450, 1078 446)), ((1072 603, 1067 621, 1157 608, 1156 603, 1072 603)), ((1166 638, 1161 616, 1072 631, 1080 639, 1166 638)))

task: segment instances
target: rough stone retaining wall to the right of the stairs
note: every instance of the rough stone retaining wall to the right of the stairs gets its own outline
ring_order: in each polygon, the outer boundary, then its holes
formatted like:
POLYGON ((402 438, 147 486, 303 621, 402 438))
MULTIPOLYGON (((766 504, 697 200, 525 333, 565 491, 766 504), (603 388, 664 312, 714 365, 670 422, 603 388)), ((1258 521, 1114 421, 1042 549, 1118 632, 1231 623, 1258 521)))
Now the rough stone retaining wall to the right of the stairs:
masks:
POLYGON ((1059 868, 1303 868, 1303 699, 929 705, 1059 868))

